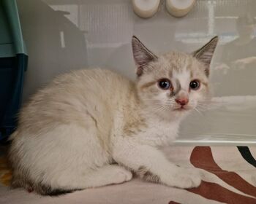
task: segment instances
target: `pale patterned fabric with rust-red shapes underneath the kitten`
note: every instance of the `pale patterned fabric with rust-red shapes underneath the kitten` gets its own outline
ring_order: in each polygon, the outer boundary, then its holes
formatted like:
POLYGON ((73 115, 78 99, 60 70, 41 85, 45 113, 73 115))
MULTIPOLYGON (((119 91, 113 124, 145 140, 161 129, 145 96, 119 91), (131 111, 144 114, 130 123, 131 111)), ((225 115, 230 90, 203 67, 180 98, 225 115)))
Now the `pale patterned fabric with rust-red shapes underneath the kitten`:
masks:
POLYGON ((1 157, 0 203, 256 204, 256 147, 173 146, 164 151, 177 165, 200 168, 203 177, 200 187, 176 189, 134 178, 124 184, 42 197, 10 189, 11 172, 6 159, 1 157))

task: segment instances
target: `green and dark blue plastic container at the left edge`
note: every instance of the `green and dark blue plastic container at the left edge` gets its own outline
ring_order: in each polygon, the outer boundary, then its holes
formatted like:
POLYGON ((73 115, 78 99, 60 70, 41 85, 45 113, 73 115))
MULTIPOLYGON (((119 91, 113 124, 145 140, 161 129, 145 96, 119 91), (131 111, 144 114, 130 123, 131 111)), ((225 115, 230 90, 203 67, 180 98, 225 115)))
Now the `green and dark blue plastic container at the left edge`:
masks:
POLYGON ((27 63, 16 1, 0 0, 0 142, 17 125, 27 63))

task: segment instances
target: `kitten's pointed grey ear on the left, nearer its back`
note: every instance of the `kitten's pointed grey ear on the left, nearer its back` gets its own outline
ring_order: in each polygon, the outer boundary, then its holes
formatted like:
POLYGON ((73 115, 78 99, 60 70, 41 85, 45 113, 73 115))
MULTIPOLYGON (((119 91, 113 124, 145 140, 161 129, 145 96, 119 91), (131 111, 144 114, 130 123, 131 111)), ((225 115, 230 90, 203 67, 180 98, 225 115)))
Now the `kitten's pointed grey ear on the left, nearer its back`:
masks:
POLYGON ((138 76, 143 74, 143 68, 145 68, 146 64, 153 60, 157 60, 157 56, 148 50, 136 36, 132 36, 132 52, 137 66, 138 76))

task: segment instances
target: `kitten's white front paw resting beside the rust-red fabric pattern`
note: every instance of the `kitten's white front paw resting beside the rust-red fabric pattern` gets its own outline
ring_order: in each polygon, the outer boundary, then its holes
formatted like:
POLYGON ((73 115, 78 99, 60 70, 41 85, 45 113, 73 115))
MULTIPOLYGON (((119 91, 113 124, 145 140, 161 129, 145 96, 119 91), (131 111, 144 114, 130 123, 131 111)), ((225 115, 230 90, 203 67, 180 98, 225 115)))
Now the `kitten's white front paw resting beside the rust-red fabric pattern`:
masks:
POLYGON ((178 168, 163 183, 181 189, 198 187, 201 183, 200 171, 194 168, 178 168))

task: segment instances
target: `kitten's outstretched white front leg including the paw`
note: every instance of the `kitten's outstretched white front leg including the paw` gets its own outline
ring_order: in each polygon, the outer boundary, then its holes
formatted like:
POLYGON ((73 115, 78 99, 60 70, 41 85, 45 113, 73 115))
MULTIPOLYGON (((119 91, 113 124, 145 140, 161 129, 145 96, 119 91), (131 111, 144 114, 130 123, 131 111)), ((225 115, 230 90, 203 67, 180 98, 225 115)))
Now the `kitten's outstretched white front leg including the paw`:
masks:
POLYGON ((196 169, 180 168, 167 160, 157 148, 138 144, 129 138, 118 140, 113 149, 113 158, 146 180, 179 188, 200 185, 200 173, 196 169))

